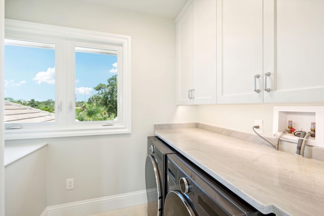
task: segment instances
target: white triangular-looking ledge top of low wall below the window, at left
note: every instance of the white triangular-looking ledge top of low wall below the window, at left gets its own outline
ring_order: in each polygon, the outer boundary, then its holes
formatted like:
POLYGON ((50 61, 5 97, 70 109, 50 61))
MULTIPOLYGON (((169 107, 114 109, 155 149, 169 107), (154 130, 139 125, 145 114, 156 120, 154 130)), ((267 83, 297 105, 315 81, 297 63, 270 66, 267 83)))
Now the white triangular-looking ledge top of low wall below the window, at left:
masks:
POLYGON ((23 158, 24 156, 43 148, 47 143, 29 144, 29 145, 10 145, 5 146, 5 167, 10 163, 23 158))

